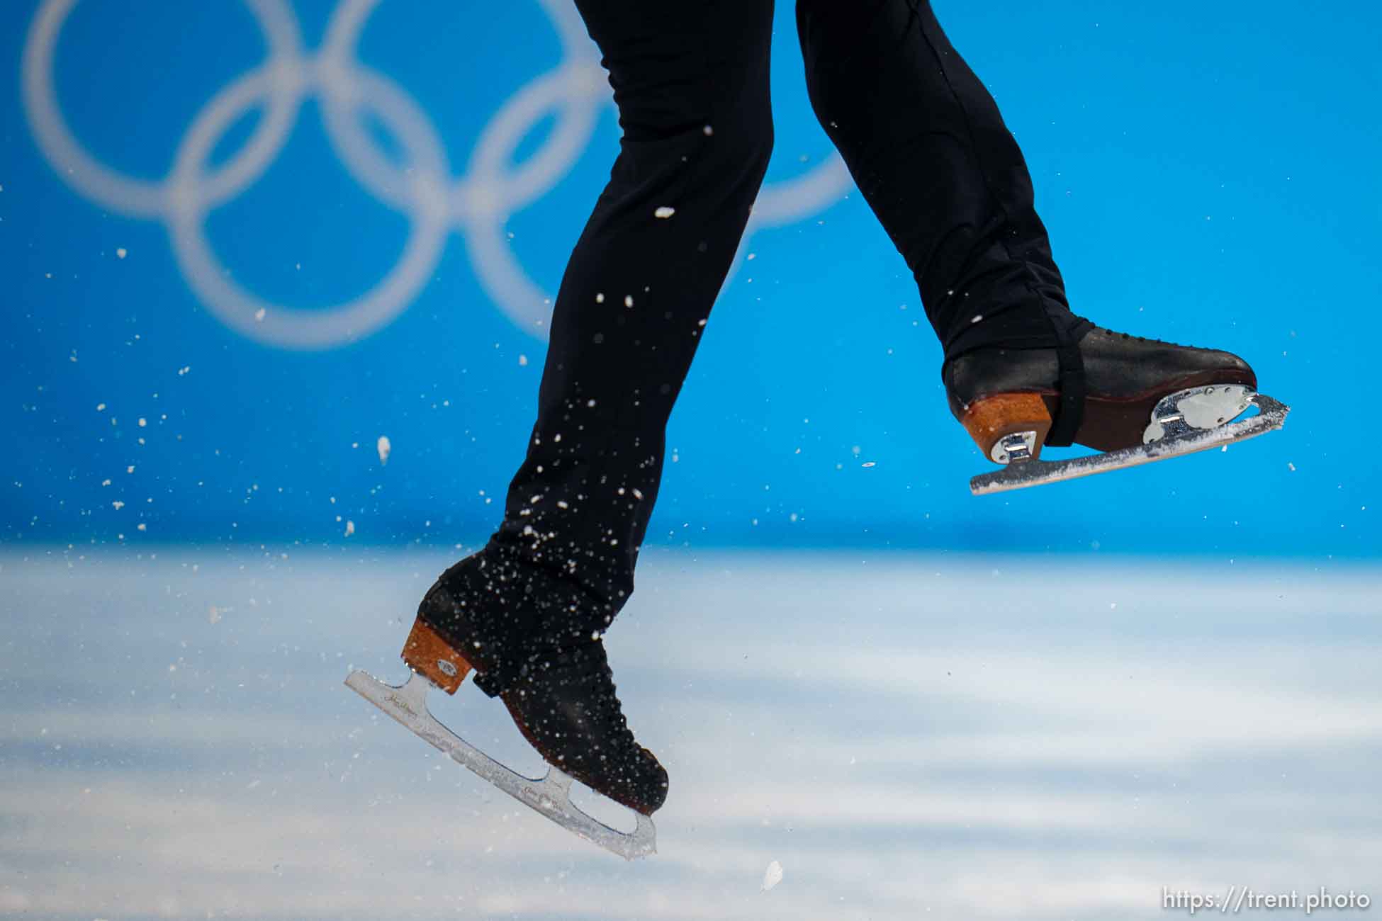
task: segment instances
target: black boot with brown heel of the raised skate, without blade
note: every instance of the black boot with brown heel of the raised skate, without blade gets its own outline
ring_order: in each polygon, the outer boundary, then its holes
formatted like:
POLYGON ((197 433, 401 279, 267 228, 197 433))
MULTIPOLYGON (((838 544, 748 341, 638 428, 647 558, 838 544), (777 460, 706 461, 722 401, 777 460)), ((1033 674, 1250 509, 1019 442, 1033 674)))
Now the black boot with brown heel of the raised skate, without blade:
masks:
POLYGON ((990 460, 1036 460, 1042 445, 1100 452, 1142 445, 1164 396, 1258 387, 1248 363, 1229 352, 1115 333, 1079 318, 1070 318, 1068 329, 1061 348, 981 348, 945 362, 951 413, 990 460), (1027 432, 1035 438, 1016 438, 1027 432))

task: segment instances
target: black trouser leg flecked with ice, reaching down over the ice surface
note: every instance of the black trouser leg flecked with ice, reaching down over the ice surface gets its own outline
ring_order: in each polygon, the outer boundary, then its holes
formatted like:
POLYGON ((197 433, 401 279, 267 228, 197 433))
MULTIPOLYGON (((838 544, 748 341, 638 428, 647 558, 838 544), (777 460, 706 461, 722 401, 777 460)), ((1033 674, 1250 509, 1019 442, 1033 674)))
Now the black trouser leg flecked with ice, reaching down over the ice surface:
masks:
POLYGON ((623 137, 557 294, 528 456, 471 580, 518 635, 603 630, 633 591, 668 417, 773 148, 771 0, 576 6, 623 137))

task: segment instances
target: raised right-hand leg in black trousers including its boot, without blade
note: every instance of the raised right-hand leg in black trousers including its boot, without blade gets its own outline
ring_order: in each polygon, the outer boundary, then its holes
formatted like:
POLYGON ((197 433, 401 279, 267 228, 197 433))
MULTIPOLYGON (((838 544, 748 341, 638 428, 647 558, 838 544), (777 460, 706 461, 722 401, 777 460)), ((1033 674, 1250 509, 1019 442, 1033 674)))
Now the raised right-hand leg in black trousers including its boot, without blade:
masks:
POLYGON ((987 456, 1007 463, 994 446, 1020 432, 1032 457, 1137 445, 1161 396, 1256 385, 1227 352, 1070 312, 1017 142, 927 0, 797 0, 796 14, 811 105, 912 269, 951 410, 987 456))

